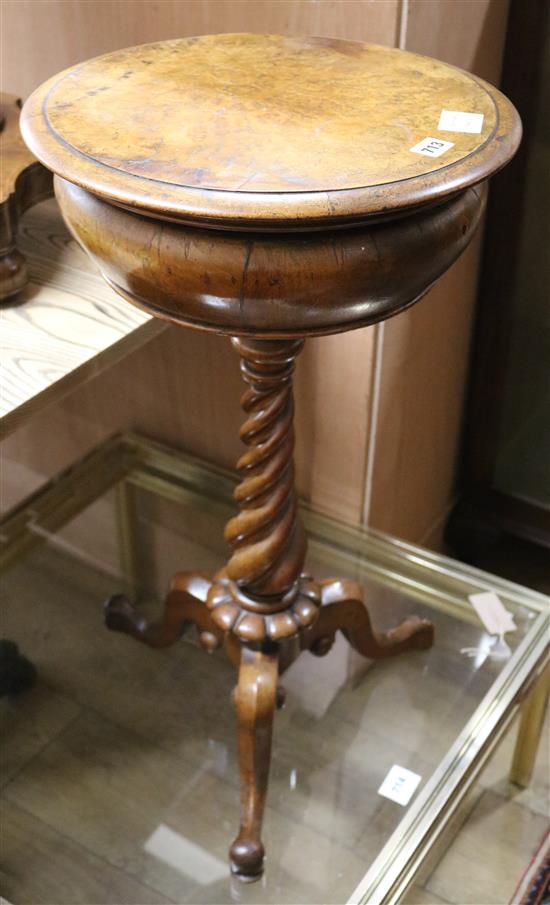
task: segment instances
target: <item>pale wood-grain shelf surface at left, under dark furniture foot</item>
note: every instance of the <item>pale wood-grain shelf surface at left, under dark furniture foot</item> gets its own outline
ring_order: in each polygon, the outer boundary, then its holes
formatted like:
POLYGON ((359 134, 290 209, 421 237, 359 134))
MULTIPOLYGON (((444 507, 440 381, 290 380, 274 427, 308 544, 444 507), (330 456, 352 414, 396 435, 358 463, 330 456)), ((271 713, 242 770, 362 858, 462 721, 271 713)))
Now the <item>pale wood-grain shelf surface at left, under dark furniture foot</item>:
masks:
POLYGON ((54 201, 28 212, 20 246, 30 280, 0 313, 4 436, 163 329, 105 284, 54 201))

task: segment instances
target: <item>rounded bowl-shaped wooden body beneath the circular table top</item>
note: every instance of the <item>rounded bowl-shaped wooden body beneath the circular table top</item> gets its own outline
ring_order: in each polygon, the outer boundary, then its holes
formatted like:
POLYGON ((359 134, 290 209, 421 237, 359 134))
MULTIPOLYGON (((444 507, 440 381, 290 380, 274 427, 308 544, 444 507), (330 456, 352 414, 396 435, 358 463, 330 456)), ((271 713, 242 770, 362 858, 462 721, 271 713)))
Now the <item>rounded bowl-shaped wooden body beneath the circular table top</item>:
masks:
POLYGON ((407 308, 471 241, 486 198, 475 186, 408 217, 275 235, 159 222, 54 181, 65 223, 130 302, 264 339, 340 333, 407 308))

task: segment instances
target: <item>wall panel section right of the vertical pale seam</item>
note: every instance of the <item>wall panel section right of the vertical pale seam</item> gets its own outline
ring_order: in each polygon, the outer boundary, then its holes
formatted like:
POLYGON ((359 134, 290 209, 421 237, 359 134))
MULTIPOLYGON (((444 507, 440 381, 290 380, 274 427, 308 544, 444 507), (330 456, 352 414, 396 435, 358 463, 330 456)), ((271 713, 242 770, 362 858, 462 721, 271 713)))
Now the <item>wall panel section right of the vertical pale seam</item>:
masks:
MULTIPOLYGON (((498 84, 506 0, 411 0, 407 50, 498 84)), ((482 231, 422 302, 379 326, 379 391, 364 519, 439 547, 451 508, 469 363, 482 231)))

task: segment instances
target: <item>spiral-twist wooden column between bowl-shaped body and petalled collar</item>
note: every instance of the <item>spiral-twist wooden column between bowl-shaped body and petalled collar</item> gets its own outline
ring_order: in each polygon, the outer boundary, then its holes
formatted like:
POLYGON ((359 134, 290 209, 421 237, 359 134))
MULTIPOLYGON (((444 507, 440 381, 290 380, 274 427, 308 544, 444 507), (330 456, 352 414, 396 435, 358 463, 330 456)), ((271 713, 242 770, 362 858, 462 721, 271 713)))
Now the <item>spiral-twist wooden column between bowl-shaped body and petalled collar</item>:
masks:
POLYGON ((233 339, 248 384, 237 462, 240 512, 225 529, 233 555, 226 571, 252 598, 281 596, 300 575, 306 550, 294 489, 292 374, 303 340, 233 339))

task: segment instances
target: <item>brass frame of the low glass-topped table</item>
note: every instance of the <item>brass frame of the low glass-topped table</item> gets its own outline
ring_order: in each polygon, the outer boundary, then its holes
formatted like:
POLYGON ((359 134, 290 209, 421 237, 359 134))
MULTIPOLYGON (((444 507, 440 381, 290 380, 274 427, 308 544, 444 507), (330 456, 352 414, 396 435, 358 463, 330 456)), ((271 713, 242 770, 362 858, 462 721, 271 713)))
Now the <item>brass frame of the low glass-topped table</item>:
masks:
MULTIPOLYGON (((128 590, 139 586, 135 490, 174 502, 200 498, 204 511, 232 504, 235 477, 224 469, 134 434, 110 438, 27 497, 0 520, 0 571, 116 488, 121 571, 128 590)), ((405 812, 349 903, 398 903, 453 826, 476 778, 522 710, 510 780, 525 786, 535 760, 550 685, 550 598, 379 532, 354 528, 302 505, 310 550, 330 547, 334 560, 361 575, 458 619, 479 624, 468 594, 494 590, 532 611, 533 624, 439 766, 405 812), (359 563, 359 565, 358 565, 359 563)))

